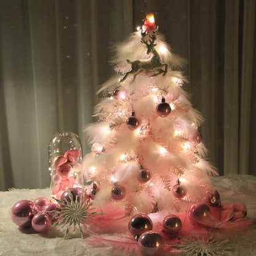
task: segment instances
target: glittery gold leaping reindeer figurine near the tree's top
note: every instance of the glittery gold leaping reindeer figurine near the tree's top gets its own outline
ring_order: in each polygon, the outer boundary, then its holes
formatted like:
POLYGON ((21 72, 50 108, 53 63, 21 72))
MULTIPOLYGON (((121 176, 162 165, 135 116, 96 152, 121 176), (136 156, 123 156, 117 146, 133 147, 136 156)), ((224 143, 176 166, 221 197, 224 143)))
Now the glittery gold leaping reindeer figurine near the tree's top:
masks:
POLYGON ((154 49, 154 47, 156 46, 156 44, 154 44, 154 41, 156 40, 157 32, 158 32, 158 28, 152 31, 152 34, 146 33, 146 31, 141 32, 142 34, 141 42, 146 45, 146 49, 147 49, 146 54, 147 55, 151 54, 151 57, 146 60, 135 60, 134 62, 131 62, 130 60, 126 60, 127 63, 132 64, 132 70, 127 72, 126 75, 119 82, 124 82, 127 76, 129 76, 129 74, 134 74, 134 78, 132 79, 132 81, 134 81, 136 76, 142 73, 142 71, 146 71, 146 73, 148 73, 148 71, 153 71, 153 72, 156 71, 157 73, 154 73, 152 76, 157 76, 158 74, 161 74, 161 73, 163 73, 162 75, 164 76, 167 73, 168 65, 166 63, 164 64, 161 63, 161 58, 158 52, 156 51, 156 49, 154 49), (150 38, 149 40, 145 39, 146 35, 149 36, 150 38), (163 67, 164 69, 162 69, 163 67))

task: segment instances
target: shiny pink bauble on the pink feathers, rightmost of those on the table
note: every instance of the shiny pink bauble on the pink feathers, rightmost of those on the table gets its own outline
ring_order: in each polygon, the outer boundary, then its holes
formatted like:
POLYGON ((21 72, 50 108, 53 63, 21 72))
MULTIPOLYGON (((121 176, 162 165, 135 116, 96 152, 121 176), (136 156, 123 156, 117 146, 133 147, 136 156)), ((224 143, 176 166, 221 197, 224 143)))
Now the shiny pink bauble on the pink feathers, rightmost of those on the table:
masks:
POLYGON ((188 217, 192 223, 209 221, 212 217, 209 206, 207 204, 197 202, 190 207, 188 217))

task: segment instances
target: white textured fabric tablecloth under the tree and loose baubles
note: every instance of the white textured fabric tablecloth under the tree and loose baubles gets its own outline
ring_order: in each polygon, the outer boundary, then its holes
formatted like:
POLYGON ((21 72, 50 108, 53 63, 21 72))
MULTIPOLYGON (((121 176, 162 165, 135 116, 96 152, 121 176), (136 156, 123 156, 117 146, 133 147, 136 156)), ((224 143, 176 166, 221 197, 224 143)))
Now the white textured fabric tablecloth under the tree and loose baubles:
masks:
MULTIPOLYGON (((247 206, 247 217, 256 220, 256 177, 251 175, 233 175, 230 177, 214 177, 213 184, 220 193, 222 202, 244 202, 247 206)), ((34 233, 31 229, 20 230, 10 218, 10 209, 15 202, 45 196, 50 197, 49 188, 38 190, 11 190, 0 192, 0 255, 1 256, 106 256, 137 255, 113 250, 111 247, 91 247, 87 238, 74 234, 72 239, 63 239, 63 231, 53 229, 46 233, 34 233)), ((70 236, 69 236, 70 237, 70 236)), ((256 255, 256 227, 244 231, 241 235, 242 247, 234 247, 233 254, 256 255)), ((224 254, 225 255, 225 254, 224 254)))

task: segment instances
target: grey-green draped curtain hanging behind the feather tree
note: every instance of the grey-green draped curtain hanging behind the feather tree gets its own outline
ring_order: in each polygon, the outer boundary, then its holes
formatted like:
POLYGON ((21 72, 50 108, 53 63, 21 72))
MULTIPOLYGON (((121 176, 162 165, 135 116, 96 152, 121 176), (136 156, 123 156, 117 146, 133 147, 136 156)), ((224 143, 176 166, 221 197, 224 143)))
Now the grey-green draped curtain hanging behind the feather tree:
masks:
POLYGON ((147 12, 186 58, 209 161, 222 175, 254 174, 255 0, 1 0, 0 190, 49 186, 53 134, 94 122, 108 61, 147 12))

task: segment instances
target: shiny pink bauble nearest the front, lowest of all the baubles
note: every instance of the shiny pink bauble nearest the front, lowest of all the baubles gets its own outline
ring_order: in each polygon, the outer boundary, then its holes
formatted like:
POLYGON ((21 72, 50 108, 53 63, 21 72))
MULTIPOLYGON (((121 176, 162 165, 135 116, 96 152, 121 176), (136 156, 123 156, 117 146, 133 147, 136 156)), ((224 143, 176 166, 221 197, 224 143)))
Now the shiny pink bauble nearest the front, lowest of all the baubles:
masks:
POLYGON ((164 241, 162 236, 154 231, 146 231, 138 239, 138 249, 143 256, 159 256, 162 255, 164 241))

